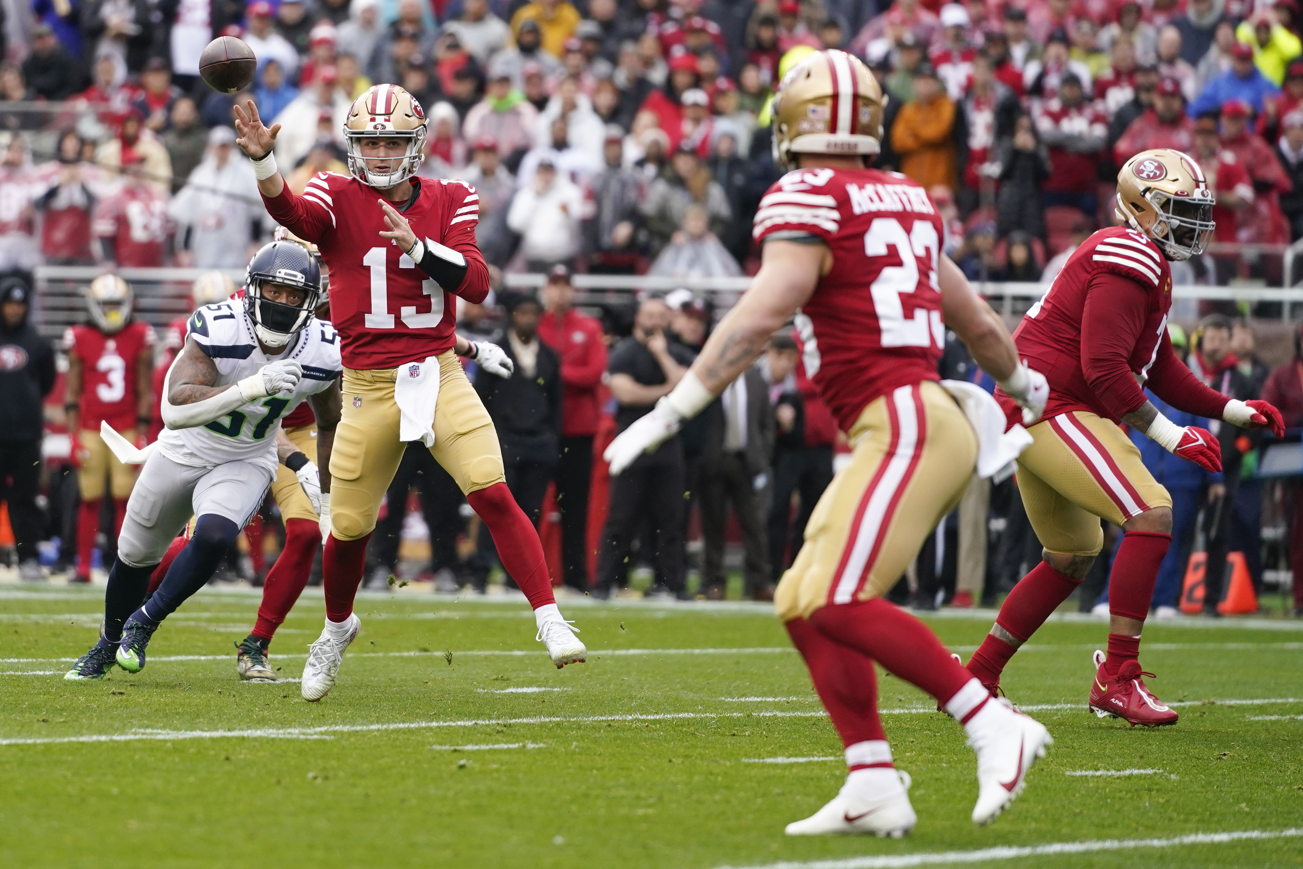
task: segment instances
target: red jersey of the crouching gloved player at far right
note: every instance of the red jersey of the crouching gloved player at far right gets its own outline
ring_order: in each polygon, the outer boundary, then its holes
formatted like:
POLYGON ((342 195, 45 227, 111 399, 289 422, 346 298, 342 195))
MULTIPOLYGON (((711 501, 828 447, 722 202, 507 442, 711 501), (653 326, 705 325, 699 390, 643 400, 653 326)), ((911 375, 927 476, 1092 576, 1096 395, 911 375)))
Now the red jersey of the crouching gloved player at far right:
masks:
MULTIPOLYGON (((1050 284, 1049 292, 1032 305, 1014 331, 1018 354, 1031 369, 1040 371, 1049 380, 1050 397, 1044 414, 1046 420, 1068 410, 1089 410, 1105 420, 1119 421, 1087 384, 1083 371, 1083 356, 1088 356, 1092 350, 1091 347, 1083 345, 1081 340, 1087 301, 1092 309, 1096 305, 1105 305, 1102 309, 1105 311, 1121 311, 1123 306, 1130 310, 1138 304, 1145 306, 1144 326, 1136 337, 1135 349, 1127 358, 1127 365, 1140 378, 1143 386, 1158 352, 1158 341, 1167 327, 1167 311, 1171 309, 1171 270, 1158 245, 1143 233, 1126 227, 1100 229, 1068 257, 1063 270, 1050 284), (1101 272, 1132 281, 1144 291, 1144 294, 1136 294, 1131 287, 1109 289, 1109 284, 1117 287, 1113 281, 1101 283, 1100 288, 1092 291, 1092 278, 1101 272), (1095 297, 1095 293, 1101 292, 1109 296, 1095 297)), ((1140 317, 1136 318, 1136 322, 1139 321, 1140 317)), ((1010 421, 1016 421, 1014 403, 1002 392, 998 392, 997 397, 1010 413, 1010 421)))

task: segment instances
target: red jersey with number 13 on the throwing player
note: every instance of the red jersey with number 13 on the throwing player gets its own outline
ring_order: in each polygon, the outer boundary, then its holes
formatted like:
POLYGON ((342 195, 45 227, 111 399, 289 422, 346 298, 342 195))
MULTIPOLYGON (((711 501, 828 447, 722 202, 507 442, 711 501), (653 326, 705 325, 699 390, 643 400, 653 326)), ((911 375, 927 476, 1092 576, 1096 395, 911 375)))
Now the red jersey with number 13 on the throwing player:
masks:
MULTIPOLYGON (((460 294, 481 301, 489 270, 476 246, 480 195, 465 181, 421 178, 403 216, 417 238, 466 258, 460 294)), ((289 188, 268 199, 267 212, 305 241, 314 241, 330 268, 331 323, 341 337, 344 366, 392 369, 443 353, 456 336, 455 287, 440 288, 386 232, 380 194, 361 181, 318 172, 304 194, 289 188)))

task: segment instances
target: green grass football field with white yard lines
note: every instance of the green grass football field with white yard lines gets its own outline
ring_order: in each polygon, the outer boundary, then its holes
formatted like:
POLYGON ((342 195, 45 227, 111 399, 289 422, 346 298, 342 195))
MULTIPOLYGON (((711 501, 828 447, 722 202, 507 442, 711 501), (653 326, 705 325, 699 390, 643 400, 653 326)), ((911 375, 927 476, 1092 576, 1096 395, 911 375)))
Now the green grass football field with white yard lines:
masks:
MULTIPOLYGON (((237 680, 253 593, 201 593, 142 672, 74 684, 60 676, 95 638, 102 590, 0 588, 0 866, 1303 864, 1300 623, 1151 625, 1149 684, 1186 705, 1175 727, 1147 731, 1085 711, 1105 625, 1052 621, 1005 685, 1055 744, 985 829, 968 819, 962 730, 885 677, 919 826, 902 840, 796 839, 783 825, 830 799, 844 766, 767 608, 563 602, 590 651, 558 671, 524 602, 410 591, 360 598, 362 632, 314 705, 297 683, 237 680), (816 760, 748 762, 780 757, 816 760), (1101 770, 1140 773, 1072 774, 1101 770), (1277 835, 1098 844, 1244 831, 1277 835), (966 853, 1059 843, 1088 844, 966 853)), ((283 677, 322 616, 310 589, 271 649, 283 677)), ((929 624, 967 653, 989 621, 929 624)))

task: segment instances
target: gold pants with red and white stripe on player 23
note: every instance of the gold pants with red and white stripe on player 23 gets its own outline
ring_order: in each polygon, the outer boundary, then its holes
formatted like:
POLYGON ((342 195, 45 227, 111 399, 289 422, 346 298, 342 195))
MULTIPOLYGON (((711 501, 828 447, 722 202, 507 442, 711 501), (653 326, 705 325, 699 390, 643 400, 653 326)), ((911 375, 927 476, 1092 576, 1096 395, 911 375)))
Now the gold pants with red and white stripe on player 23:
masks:
POLYGON ((814 506, 774 593, 783 621, 886 594, 959 503, 977 463, 968 418, 930 380, 874 399, 850 434, 851 464, 814 506))

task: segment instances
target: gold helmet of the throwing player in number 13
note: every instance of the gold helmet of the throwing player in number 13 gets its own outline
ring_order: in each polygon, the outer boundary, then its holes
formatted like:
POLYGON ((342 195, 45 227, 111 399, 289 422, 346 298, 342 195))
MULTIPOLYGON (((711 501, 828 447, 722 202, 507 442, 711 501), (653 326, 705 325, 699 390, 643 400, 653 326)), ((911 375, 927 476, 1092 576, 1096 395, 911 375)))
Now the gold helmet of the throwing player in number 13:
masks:
POLYGON ((348 172, 373 188, 392 188, 416 175, 425 159, 425 112, 412 94, 397 85, 373 85, 353 100, 344 121, 348 172), (367 139, 399 139, 401 156, 362 156, 367 139))

